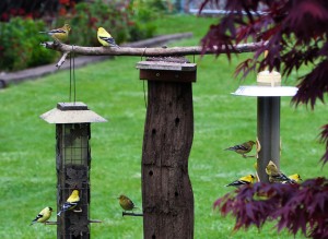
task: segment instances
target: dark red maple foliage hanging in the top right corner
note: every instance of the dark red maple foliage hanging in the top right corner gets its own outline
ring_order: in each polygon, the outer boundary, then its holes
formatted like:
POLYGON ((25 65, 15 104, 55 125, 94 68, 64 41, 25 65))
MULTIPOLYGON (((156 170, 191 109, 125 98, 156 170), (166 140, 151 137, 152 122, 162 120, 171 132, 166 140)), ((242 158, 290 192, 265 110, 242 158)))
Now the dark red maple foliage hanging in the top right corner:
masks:
MULTIPOLYGON (((313 109, 317 99, 324 101, 328 92, 327 0, 204 0, 201 9, 210 2, 225 2, 227 14, 219 24, 211 25, 202 39, 204 49, 218 50, 219 55, 220 46, 233 49, 234 44, 262 41, 254 57, 237 67, 236 74, 244 77, 268 67, 289 76, 302 65, 309 65, 313 70, 298 77, 298 92, 292 100, 296 106, 308 104, 313 109), (266 50, 269 53, 263 59, 266 50)), ((328 124, 324 126, 321 132, 321 141, 326 142, 324 164, 328 162, 327 128, 328 124)))

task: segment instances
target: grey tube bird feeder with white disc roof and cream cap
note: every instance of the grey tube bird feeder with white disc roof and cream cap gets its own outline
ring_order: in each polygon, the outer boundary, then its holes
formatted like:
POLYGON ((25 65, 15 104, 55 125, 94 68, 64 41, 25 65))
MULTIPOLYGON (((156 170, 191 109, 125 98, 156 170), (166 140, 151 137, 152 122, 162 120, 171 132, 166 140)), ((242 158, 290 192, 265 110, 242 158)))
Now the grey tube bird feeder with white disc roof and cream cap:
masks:
POLYGON ((281 86, 281 75, 277 71, 261 71, 257 75, 257 85, 239 86, 232 93, 238 96, 257 97, 257 174, 260 181, 269 182, 266 167, 272 160, 280 166, 280 98, 294 96, 297 87, 281 86))

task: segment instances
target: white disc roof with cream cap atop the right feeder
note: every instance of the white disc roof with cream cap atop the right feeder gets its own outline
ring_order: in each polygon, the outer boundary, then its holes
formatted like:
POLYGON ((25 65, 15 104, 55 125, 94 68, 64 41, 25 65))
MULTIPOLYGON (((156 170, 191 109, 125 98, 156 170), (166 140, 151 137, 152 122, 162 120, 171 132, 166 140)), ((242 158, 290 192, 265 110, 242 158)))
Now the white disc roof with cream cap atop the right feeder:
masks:
POLYGON ((298 88, 281 86, 281 75, 277 71, 261 71, 257 75, 257 85, 241 85, 233 95, 239 96, 294 96, 298 88))

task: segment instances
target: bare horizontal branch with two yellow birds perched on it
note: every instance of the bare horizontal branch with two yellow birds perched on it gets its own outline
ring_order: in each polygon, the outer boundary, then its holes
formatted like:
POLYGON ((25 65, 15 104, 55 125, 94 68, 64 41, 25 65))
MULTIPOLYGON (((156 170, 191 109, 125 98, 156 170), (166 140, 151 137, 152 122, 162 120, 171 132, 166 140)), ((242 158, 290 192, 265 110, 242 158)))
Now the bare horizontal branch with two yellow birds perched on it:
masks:
MULTIPOLYGON (((44 43, 44 47, 57 50, 60 52, 71 52, 72 46, 66 44, 56 43, 44 43)), ((188 56, 188 55, 216 55, 224 53, 227 50, 230 52, 251 52, 256 51, 258 48, 265 46, 266 43, 250 43, 241 44, 226 49, 224 46, 213 47, 212 49, 204 50, 201 46, 194 47, 154 47, 154 48, 132 48, 132 47, 81 47, 74 46, 74 52, 78 55, 89 55, 89 56, 139 56, 139 57, 167 57, 167 56, 188 56)))

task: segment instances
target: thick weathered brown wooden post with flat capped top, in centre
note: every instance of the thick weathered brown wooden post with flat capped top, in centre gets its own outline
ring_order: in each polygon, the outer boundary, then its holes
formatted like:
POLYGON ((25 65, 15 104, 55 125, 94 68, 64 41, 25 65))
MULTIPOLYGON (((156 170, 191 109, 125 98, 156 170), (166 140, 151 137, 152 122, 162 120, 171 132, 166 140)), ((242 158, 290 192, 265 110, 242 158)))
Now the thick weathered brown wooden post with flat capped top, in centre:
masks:
POLYGON ((174 58, 140 61, 148 81, 142 147, 143 237, 194 238, 188 157, 194 136, 191 83, 197 65, 174 58))

